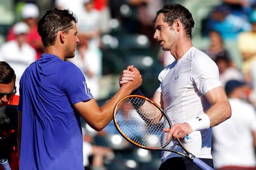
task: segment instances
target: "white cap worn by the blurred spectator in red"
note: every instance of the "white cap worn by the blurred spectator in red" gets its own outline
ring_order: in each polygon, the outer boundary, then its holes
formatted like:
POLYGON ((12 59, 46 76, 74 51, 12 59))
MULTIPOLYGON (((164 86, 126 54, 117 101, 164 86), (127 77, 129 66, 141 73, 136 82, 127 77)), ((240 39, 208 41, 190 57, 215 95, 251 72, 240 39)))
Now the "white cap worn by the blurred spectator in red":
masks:
POLYGON ((38 18, 39 16, 39 8, 33 3, 27 3, 22 8, 22 18, 38 18))

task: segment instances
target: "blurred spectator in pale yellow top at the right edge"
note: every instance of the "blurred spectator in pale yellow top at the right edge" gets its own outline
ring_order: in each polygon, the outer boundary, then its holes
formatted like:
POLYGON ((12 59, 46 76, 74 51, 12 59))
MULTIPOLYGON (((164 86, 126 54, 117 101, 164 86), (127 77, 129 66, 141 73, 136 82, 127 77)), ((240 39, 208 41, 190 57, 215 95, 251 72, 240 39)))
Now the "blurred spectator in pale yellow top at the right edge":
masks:
POLYGON ((251 31, 242 32, 238 36, 238 48, 242 54, 242 73, 246 82, 250 82, 250 69, 256 61, 256 6, 250 13, 251 31))

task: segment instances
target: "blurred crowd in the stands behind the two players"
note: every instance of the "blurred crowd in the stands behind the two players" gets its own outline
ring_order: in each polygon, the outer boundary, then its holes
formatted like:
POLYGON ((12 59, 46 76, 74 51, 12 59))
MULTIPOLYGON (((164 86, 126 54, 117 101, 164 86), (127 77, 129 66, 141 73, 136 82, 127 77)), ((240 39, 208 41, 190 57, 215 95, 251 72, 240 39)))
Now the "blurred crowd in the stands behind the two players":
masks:
MULTIPOLYGON (((230 104, 234 107, 232 112, 237 112, 233 114, 235 115, 233 119, 224 122, 226 124, 222 127, 213 128, 213 156, 216 159, 214 165, 221 168, 226 163, 227 157, 220 156, 223 155, 221 149, 229 146, 231 139, 222 134, 223 129, 226 130, 225 133, 233 134, 230 138, 236 140, 238 139, 236 127, 248 125, 248 128, 240 131, 246 135, 245 139, 243 137, 240 139, 243 139, 241 143, 245 142, 246 146, 250 146, 247 149, 251 150, 255 156, 255 0, 218 0, 214 3, 203 0, 193 2, 186 0, 9 0, 0 2, 0 7, 9 6, 10 8, 6 7, 6 9, 9 9, 9 13, 11 12, 14 16, 9 22, 1 22, 3 19, 0 19, 2 37, 0 61, 6 61, 15 70, 15 84, 17 94, 19 94, 19 80, 24 70, 43 53, 43 44, 37 32, 40 16, 49 8, 68 8, 79 20, 77 29, 80 39, 76 56, 70 61, 84 73, 91 93, 98 103, 104 103, 112 95, 112 91, 115 91, 115 87, 118 86, 118 79, 115 75, 131 64, 138 67, 142 73, 142 91, 146 96, 152 97, 154 94, 152 89, 159 86, 156 78, 160 70, 174 61, 170 52, 164 52, 153 39, 155 13, 168 3, 181 3, 189 10, 195 4, 197 7, 207 6, 207 14, 203 17, 199 17, 198 13, 194 15, 193 10, 191 11, 195 21, 200 25, 199 29, 195 28, 192 40, 200 37, 202 41, 199 43, 204 43, 203 40, 207 39, 205 45, 198 45, 198 42, 195 42, 194 46, 203 50, 216 62, 221 83, 229 96, 230 104), (199 34, 198 30, 200 30, 199 34), (227 47, 227 42, 232 42, 232 46, 227 47), (234 52, 237 53, 238 58, 234 57, 234 52), (247 118, 243 120, 243 117, 247 118), (245 122, 240 125, 237 123, 238 120, 245 122), (221 143, 223 140, 218 140, 220 137, 221 139, 227 138, 228 144, 221 143)), ((120 138, 112 122, 100 133, 96 133, 84 121, 82 122, 84 156, 87 158, 84 166, 88 169, 110 169, 111 164, 111 169, 117 165, 120 166, 118 169, 156 169, 159 167, 158 151, 142 151, 138 148, 135 150, 120 138), (126 158, 122 154, 133 156, 126 158), (122 167, 123 160, 125 164, 122 167), (147 165, 150 162, 154 165, 147 165)), ((232 147, 229 146, 230 149, 226 149, 226 153, 231 152, 234 155, 232 151, 237 143, 230 145, 232 147)), ((238 150, 240 150, 239 147, 237 146, 238 150)), ((244 147, 245 145, 241 146, 241 148, 244 147)), ((253 156, 251 158, 255 159, 253 156)))

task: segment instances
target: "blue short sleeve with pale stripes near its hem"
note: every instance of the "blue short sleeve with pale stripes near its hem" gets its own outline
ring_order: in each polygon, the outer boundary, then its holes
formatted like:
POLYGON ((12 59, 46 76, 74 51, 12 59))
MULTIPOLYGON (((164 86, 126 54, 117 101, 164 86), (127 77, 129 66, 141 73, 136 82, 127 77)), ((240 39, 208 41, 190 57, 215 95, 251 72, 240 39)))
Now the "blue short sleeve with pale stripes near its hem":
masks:
POLYGON ((93 98, 81 70, 71 62, 66 62, 59 73, 60 88, 67 94, 72 104, 93 98))

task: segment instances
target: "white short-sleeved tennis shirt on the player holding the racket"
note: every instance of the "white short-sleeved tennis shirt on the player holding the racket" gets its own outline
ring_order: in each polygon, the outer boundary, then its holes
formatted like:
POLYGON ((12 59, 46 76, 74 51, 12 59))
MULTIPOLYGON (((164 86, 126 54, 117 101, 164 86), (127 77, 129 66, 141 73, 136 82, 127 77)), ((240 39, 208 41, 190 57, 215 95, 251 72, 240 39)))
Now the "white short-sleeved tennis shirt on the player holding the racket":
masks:
MULTIPOLYGON (((195 47, 191 47, 178 61, 168 65, 159 74, 158 79, 160 87, 156 91, 161 92, 163 108, 172 125, 205 113, 210 108, 210 103, 204 95, 209 90, 221 86, 216 63, 195 47)), ((212 158, 211 128, 195 131, 189 136, 190 139, 185 146, 192 154, 198 158, 212 158)), ((171 141, 168 147, 182 151, 175 141, 171 141)), ((177 156, 180 155, 163 151, 162 162, 177 156)))

